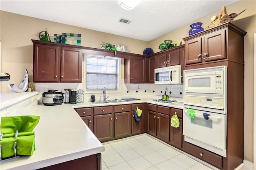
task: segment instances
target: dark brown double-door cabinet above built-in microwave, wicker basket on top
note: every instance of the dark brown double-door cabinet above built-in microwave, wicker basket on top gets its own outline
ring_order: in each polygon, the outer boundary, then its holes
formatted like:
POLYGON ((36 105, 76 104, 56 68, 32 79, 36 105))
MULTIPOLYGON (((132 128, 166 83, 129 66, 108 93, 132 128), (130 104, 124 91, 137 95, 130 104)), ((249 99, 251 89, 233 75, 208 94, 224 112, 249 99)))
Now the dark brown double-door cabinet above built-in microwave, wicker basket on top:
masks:
POLYGON ((244 63, 243 37, 246 34, 230 22, 194 34, 185 41, 185 66, 217 60, 244 63))

